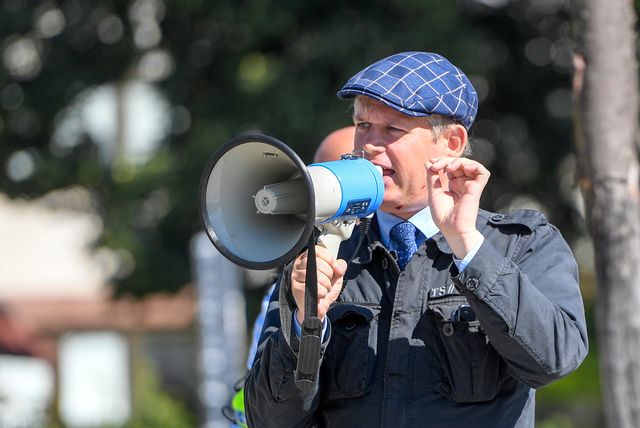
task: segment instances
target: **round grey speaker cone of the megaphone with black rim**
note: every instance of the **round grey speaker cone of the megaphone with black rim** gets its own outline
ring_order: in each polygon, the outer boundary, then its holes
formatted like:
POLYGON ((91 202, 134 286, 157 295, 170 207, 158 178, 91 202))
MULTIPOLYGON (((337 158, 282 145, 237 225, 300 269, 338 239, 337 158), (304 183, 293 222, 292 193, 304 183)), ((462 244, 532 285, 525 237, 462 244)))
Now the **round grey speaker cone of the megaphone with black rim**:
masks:
POLYGON ((250 134, 227 142, 209 160, 200 187, 207 235, 240 266, 281 266, 313 231, 315 200, 306 166, 273 137, 250 134))

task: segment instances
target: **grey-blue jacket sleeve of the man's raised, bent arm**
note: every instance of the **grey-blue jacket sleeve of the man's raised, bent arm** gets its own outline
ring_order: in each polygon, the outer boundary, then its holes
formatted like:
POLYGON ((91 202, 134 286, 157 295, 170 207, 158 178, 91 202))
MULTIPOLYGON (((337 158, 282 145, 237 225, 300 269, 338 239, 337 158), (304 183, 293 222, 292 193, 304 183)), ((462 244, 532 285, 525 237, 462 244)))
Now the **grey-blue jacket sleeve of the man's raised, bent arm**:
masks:
POLYGON ((511 374, 538 388, 571 373, 587 354, 578 268, 546 223, 519 236, 510 252, 505 257, 485 239, 454 281, 511 374))

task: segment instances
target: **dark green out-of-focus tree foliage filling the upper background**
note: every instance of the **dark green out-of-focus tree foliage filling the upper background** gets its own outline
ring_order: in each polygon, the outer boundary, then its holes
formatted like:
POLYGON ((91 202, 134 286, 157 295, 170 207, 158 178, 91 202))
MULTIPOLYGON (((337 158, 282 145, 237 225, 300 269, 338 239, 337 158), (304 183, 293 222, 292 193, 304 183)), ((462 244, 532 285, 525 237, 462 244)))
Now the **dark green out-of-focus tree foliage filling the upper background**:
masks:
POLYGON ((571 45, 566 7, 552 3, 3 0, 0 190, 34 198, 82 186, 103 224, 95 247, 117 256, 115 291, 175 291, 190 280, 200 174, 216 148, 259 131, 310 161, 350 121, 335 93, 352 74, 427 50, 480 93, 472 137, 493 173, 483 205, 539 206, 571 239, 582 226, 558 190, 571 174, 561 163, 571 152, 571 45), (127 155, 139 141, 107 117, 118 105, 86 107, 97 93, 124 102, 132 82, 166 104, 164 116, 149 105, 133 117, 118 110, 127 126, 166 131, 143 162, 127 155))

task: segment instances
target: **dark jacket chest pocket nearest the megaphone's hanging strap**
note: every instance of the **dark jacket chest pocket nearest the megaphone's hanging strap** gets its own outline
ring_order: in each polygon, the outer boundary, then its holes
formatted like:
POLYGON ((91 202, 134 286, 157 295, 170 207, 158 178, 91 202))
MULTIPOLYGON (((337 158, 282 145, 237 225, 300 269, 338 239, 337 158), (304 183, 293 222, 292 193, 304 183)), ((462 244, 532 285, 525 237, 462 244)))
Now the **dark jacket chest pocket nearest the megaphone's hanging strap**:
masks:
POLYGON ((377 341, 379 306, 338 303, 329 309, 331 340, 322 362, 327 400, 362 396, 369 385, 377 341))

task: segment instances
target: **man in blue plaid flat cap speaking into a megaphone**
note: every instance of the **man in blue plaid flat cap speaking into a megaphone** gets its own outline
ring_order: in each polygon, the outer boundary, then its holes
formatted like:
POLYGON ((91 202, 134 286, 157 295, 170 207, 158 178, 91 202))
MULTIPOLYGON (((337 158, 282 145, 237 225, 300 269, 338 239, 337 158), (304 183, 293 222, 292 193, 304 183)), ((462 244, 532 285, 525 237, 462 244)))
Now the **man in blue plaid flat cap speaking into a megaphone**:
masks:
POLYGON ((338 260, 316 247, 325 333, 304 393, 306 252, 283 271, 246 382, 250 426, 533 427, 535 388, 587 353, 568 245, 539 212, 479 209, 489 172, 462 157, 477 95, 442 56, 392 55, 338 96, 355 97, 355 149, 382 168, 384 201, 349 266, 358 236, 338 260))

